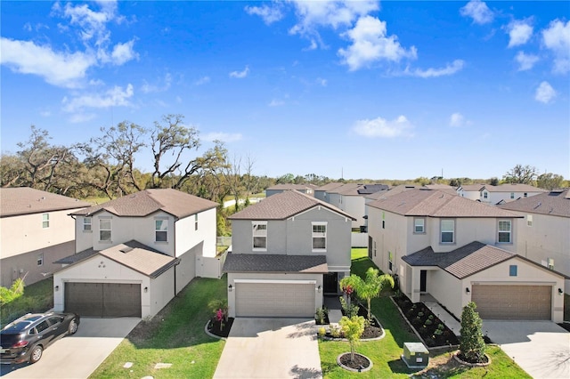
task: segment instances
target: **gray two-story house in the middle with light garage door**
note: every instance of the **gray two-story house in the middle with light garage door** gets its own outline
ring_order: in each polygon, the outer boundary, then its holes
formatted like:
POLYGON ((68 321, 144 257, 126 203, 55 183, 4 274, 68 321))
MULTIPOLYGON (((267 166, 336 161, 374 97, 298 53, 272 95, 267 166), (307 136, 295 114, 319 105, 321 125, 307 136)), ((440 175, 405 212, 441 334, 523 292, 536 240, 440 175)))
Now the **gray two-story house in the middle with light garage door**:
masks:
POLYGON ((230 216, 231 317, 313 317, 350 275, 350 214, 296 190, 230 216))

